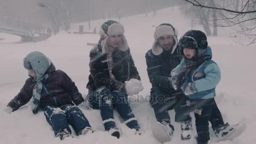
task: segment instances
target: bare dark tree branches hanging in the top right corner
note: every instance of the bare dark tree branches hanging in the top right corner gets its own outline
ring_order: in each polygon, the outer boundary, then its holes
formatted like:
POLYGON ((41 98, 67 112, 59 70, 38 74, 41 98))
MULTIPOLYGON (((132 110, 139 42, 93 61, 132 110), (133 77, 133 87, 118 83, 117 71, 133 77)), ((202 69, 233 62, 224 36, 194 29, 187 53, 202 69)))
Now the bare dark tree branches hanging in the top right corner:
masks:
MULTIPOLYGON (((202 3, 202 0, 184 0, 191 5, 202 9, 216 10, 216 17, 211 17, 208 22, 218 22, 218 27, 231 27, 230 35, 237 39, 236 43, 251 45, 256 43, 256 0, 246 0, 238 3, 237 0, 217 1, 215 4, 223 3, 226 7, 202 3), (238 7, 241 9, 239 10, 238 7)), ((214 24, 213 24, 214 25, 214 24)))

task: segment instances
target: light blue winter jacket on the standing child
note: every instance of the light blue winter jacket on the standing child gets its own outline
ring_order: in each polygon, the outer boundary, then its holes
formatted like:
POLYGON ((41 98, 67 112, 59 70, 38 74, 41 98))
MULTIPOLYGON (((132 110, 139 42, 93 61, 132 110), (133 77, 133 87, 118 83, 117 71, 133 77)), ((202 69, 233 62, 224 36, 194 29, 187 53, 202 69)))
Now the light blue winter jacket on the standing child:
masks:
MULTIPOLYGON (((202 55, 211 55, 211 48, 208 47, 207 50, 202 55)), ((186 64, 184 60, 172 70, 171 76, 179 74, 181 68, 186 64)), ((213 98, 215 93, 216 85, 221 80, 221 72, 218 64, 216 64, 212 60, 205 61, 199 67, 192 69, 189 73, 185 83, 182 87, 183 92, 185 93, 185 89, 192 83, 196 88, 197 92, 194 94, 186 95, 189 99, 210 99, 213 98)))

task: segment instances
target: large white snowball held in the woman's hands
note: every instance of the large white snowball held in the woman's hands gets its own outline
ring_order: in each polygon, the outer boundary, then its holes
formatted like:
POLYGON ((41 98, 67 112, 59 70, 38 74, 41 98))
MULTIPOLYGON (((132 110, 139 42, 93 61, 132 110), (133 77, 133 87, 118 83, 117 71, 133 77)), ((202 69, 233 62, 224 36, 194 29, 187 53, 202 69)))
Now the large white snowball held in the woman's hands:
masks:
POLYGON ((142 86, 140 80, 131 79, 131 80, 125 81, 125 91, 129 96, 134 95, 142 91, 143 89, 144 87, 142 86))

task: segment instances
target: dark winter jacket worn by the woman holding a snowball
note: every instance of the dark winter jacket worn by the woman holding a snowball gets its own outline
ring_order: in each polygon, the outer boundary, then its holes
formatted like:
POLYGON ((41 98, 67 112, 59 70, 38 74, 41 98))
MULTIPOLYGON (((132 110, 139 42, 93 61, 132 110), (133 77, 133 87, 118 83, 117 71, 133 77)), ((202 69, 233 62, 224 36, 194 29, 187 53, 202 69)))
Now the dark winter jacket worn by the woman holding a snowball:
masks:
POLYGON ((107 54, 102 52, 101 44, 96 45, 90 52, 90 73, 87 88, 95 91, 96 88, 106 87, 111 91, 125 91, 124 82, 130 79, 140 80, 139 72, 134 65, 130 49, 127 51, 114 51, 112 53, 112 74, 110 78, 107 54))

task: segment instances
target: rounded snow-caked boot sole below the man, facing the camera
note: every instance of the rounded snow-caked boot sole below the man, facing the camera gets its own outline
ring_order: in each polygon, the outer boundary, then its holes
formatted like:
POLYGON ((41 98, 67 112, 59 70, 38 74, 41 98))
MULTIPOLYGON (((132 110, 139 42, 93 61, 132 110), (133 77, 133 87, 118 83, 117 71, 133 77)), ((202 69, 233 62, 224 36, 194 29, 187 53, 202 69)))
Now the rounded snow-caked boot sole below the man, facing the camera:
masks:
POLYGON ((156 122, 152 125, 152 133, 158 141, 165 143, 171 141, 173 136, 174 127, 171 124, 165 122, 156 122))

